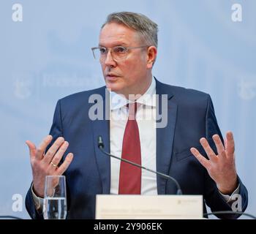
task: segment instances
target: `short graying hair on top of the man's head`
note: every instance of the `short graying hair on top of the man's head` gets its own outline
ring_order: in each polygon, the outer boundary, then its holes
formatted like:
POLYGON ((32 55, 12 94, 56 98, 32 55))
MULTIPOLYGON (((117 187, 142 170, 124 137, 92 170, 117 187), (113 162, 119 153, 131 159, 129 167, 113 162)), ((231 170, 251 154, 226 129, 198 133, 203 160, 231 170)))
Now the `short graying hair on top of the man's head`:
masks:
POLYGON ((108 15, 107 20, 102 25, 102 28, 107 23, 121 23, 130 29, 134 29, 138 32, 146 43, 154 45, 157 48, 157 23, 154 23, 151 19, 135 12, 113 12, 108 15))

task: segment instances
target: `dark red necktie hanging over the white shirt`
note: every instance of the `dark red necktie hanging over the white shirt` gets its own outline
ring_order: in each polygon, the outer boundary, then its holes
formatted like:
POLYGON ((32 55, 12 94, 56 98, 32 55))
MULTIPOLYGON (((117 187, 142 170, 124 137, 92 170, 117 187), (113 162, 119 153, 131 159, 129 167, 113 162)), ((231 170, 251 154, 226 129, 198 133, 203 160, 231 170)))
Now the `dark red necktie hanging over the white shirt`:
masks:
MULTIPOLYGON (((129 117, 124 130, 122 159, 135 162, 141 165, 140 135, 138 124, 135 119, 137 103, 129 103, 129 117)), ((120 165, 119 195, 140 195, 141 169, 127 162, 120 165)))

